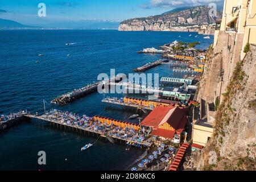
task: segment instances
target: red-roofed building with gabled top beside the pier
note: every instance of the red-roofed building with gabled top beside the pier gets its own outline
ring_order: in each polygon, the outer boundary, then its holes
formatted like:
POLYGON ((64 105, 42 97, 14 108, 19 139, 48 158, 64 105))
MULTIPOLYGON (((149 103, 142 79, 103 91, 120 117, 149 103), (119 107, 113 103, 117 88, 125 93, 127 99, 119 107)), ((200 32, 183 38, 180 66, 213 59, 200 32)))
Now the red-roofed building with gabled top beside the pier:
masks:
POLYGON ((185 109, 175 106, 157 106, 141 125, 152 128, 152 135, 163 138, 174 138, 175 134, 181 134, 187 123, 185 109))

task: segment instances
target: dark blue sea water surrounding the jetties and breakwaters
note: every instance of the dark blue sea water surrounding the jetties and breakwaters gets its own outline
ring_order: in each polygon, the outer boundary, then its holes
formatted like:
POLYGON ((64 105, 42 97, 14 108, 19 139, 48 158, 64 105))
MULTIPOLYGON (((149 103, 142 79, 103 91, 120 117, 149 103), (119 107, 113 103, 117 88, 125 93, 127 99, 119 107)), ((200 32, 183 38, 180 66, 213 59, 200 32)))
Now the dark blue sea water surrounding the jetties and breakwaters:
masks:
MULTIPOLYGON (((100 73, 109 75, 112 68, 115 73, 133 73, 134 68, 160 58, 160 55, 136 53, 143 48, 157 48, 177 40, 199 41, 197 48, 206 49, 213 42, 213 36, 203 39, 204 35, 195 38, 196 35, 196 32, 116 30, 0 31, 0 115, 20 109, 43 113, 43 100, 46 100, 47 110, 55 108, 138 122, 138 119, 129 120, 136 111, 102 103, 108 94, 93 93, 64 106, 50 102, 65 92, 97 81, 100 73), (67 46, 66 43, 76 44, 67 46)), ((172 76, 172 69, 163 64, 146 73, 172 76)), ((82 146, 96 139, 40 126, 34 121, 20 123, 0 133, 0 170, 124 170, 143 153, 140 148, 126 151, 125 144, 105 140, 98 140, 92 148, 81 152, 82 146), (40 166, 38 151, 42 150, 46 151, 47 164, 40 166)))

